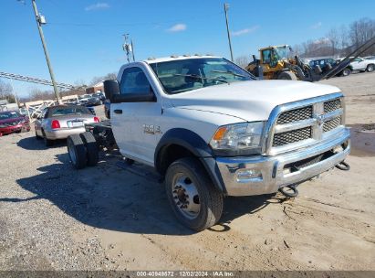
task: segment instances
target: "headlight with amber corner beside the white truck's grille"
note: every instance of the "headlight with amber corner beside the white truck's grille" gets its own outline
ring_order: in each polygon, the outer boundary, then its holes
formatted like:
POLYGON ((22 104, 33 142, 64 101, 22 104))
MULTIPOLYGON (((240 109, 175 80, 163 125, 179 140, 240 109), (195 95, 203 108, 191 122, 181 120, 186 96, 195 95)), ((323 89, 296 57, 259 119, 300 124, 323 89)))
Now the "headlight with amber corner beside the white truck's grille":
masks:
POLYGON ((217 129, 210 141, 216 155, 255 155, 262 149, 265 122, 235 123, 217 129))

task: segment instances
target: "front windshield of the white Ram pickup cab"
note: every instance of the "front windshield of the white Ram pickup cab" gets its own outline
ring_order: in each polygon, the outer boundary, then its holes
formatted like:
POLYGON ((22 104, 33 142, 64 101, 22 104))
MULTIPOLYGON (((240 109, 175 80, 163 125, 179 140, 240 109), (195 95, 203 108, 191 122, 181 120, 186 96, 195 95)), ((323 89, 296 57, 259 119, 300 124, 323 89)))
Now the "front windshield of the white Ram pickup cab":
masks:
POLYGON ((150 65, 169 94, 254 80, 245 69, 221 58, 180 59, 150 65))

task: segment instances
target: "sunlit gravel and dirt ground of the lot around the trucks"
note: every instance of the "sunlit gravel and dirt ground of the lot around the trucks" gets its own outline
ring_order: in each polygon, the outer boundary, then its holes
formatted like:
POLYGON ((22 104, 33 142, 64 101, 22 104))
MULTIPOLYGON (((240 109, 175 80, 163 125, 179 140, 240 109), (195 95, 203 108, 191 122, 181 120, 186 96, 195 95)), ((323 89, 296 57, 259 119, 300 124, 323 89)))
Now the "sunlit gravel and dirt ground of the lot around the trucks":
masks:
POLYGON ((375 73, 323 83, 347 97, 351 170, 294 199, 226 198, 200 233, 176 221, 146 166, 110 154, 76 171, 65 142, 1 137, 0 270, 375 270, 375 73))

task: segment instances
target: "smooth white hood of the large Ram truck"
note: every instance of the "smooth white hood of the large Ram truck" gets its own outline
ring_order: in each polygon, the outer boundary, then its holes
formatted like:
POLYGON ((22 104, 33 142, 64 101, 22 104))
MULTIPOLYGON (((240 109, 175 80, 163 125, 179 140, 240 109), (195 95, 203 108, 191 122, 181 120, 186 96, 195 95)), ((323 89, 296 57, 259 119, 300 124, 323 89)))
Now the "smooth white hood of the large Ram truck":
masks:
POLYGON ((266 121, 279 104, 339 92, 329 85, 291 80, 250 80, 171 95, 172 106, 215 112, 243 121, 266 121))

